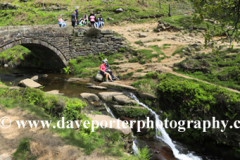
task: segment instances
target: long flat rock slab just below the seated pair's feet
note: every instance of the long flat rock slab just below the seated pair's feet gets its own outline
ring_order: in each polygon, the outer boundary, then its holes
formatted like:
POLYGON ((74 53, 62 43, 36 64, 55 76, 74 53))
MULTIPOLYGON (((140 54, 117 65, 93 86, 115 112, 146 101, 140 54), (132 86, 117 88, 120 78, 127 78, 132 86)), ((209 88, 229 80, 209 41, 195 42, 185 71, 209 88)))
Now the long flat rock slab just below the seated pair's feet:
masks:
POLYGON ((102 82, 99 84, 100 86, 106 86, 109 88, 114 88, 114 89, 118 89, 118 90, 128 90, 131 92, 138 92, 138 89, 132 86, 128 86, 125 84, 120 84, 120 83, 114 83, 114 82, 102 82))

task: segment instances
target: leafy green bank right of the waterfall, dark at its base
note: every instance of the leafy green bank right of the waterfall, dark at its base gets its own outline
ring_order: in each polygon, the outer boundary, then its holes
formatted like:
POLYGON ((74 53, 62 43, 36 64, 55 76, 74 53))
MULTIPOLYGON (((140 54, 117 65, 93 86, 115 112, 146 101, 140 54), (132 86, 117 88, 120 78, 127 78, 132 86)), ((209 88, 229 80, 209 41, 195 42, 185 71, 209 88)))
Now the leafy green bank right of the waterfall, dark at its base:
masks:
MULTIPOLYGON (((202 124, 203 120, 212 121, 212 117, 215 117, 233 124, 240 118, 240 95, 237 93, 172 74, 162 75, 159 80, 158 101, 164 111, 161 115, 163 119, 194 120, 202 124)), ((232 158, 239 158, 239 141, 234 138, 238 135, 237 129, 227 126, 221 132, 223 128, 210 127, 203 132, 202 128, 196 128, 196 124, 191 124, 189 129, 186 123, 182 127, 184 131, 177 128, 168 129, 168 132, 175 139, 197 143, 223 157, 229 158, 231 155, 232 158)))

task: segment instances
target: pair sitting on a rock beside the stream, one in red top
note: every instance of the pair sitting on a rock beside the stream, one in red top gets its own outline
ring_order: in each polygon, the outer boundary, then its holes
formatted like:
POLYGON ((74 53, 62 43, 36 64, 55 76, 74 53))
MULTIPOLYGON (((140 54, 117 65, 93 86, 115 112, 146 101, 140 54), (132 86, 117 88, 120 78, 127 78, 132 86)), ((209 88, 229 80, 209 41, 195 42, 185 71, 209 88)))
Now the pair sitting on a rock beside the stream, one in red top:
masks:
POLYGON ((100 65, 100 73, 106 77, 106 82, 109 82, 108 79, 113 82, 113 80, 118 79, 117 77, 115 77, 112 73, 112 71, 109 68, 109 65, 107 63, 107 58, 105 58, 102 61, 102 64, 100 65))

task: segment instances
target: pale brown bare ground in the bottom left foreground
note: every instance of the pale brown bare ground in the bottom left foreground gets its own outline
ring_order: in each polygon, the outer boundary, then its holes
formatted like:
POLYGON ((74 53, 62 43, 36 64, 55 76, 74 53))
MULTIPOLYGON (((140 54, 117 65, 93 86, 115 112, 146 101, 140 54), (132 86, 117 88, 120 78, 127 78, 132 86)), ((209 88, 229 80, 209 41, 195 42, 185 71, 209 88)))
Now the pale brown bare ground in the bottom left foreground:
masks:
POLYGON ((0 118, 8 117, 11 119, 9 128, 0 127, 0 160, 12 158, 20 140, 31 138, 31 153, 39 160, 115 160, 115 157, 103 155, 100 150, 94 150, 91 155, 85 155, 81 148, 67 145, 61 137, 49 129, 42 127, 30 129, 26 127, 19 129, 16 120, 41 120, 29 111, 22 108, 4 110, 0 107, 0 118))

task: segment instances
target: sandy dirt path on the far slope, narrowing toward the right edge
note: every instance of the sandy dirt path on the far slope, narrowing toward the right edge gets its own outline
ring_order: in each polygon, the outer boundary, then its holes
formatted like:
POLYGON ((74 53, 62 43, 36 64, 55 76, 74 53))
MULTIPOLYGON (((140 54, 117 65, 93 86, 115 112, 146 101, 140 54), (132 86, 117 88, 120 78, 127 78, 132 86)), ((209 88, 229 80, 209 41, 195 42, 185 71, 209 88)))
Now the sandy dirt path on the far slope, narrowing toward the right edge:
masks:
MULTIPOLYGON (((173 52, 176 49, 179 49, 184 46, 188 46, 189 44, 198 43, 198 44, 204 44, 204 37, 202 34, 193 35, 193 34, 182 34, 182 32, 168 32, 163 31, 156 33, 153 31, 154 28, 156 28, 158 25, 157 22, 150 22, 150 23, 144 23, 144 24, 132 24, 128 22, 122 23, 120 26, 105 26, 104 29, 110 29, 113 30, 119 34, 121 34, 123 37, 127 39, 127 42, 130 43, 130 46, 134 47, 135 49, 150 49, 149 46, 157 45, 161 47, 161 51, 164 52, 164 54, 167 56, 167 58, 161 60, 161 62, 155 62, 155 63, 147 63, 144 65, 141 65, 139 63, 123 63, 121 65, 115 65, 118 67, 117 72, 120 74, 127 74, 130 72, 134 72, 133 77, 137 78, 138 76, 144 76, 148 72, 152 71, 160 71, 160 73, 167 73, 170 72, 172 74, 175 74, 177 76, 181 76, 187 79, 194 79, 198 80, 207 84, 215 85, 220 88, 227 89, 229 91, 240 93, 240 91, 222 87, 216 84, 209 83, 207 81, 203 81, 197 78, 192 78, 189 76, 182 75, 180 73, 173 72, 172 68, 174 63, 178 63, 183 61, 187 56, 180 57, 180 55, 172 55, 173 52), (139 33, 145 33, 147 34, 147 37, 140 38, 138 35, 139 33), (161 41, 158 41, 161 39, 161 41), (138 44, 135 44, 136 41, 141 40, 143 42, 143 46, 140 46, 138 44), (169 46, 164 47, 164 45, 168 44, 169 46), (139 69, 143 69, 142 72, 136 72, 139 69)), ((215 37, 215 40, 219 39, 220 37, 215 37)), ((220 43, 218 42, 218 45, 227 45, 229 46, 229 43, 220 43)), ((236 42, 234 42, 234 46, 238 46, 236 42)), ((225 47, 226 48, 226 47, 225 47)), ((239 46, 237 47, 239 48, 239 46)), ((207 48, 201 49, 201 52, 209 53, 212 50, 207 48)), ((162 56, 162 55, 160 55, 162 56)), ((154 62, 154 61, 153 61, 154 62)), ((124 82, 125 84, 130 84, 131 82, 134 82, 134 80, 129 80, 127 82, 124 82)))

